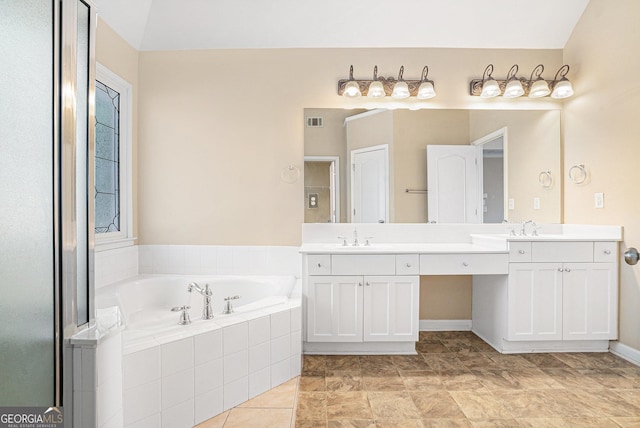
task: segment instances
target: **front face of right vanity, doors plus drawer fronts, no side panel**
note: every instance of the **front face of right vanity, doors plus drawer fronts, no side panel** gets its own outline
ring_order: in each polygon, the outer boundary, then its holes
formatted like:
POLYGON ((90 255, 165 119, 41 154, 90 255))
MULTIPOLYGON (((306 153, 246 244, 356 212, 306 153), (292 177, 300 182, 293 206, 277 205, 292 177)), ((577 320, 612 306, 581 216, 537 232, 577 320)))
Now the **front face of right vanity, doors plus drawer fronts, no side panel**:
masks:
POLYGON ((509 264, 508 340, 617 338, 616 242, 518 242, 509 264), (528 255, 528 256, 527 256, 528 255), (530 263, 520 263, 530 259, 530 263))

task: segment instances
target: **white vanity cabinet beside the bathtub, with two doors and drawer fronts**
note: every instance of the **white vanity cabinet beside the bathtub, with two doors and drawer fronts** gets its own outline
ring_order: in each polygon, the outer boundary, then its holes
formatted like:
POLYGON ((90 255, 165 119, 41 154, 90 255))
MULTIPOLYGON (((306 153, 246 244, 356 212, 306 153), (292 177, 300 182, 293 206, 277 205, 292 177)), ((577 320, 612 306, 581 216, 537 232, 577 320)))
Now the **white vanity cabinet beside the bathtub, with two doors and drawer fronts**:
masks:
POLYGON ((417 254, 308 255, 306 342, 320 344, 313 349, 335 353, 402 353, 392 343, 403 342, 410 344, 408 352, 415 353, 418 269, 417 254))

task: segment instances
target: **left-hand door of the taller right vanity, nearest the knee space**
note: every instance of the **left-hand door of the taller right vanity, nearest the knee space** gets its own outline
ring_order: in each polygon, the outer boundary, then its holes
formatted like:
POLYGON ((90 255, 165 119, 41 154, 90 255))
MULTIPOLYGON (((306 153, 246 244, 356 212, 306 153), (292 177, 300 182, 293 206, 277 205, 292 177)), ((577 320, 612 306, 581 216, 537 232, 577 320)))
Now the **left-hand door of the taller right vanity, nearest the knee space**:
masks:
POLYGON ((562 264, 511 263, 508 340, 562 339, 562 264))

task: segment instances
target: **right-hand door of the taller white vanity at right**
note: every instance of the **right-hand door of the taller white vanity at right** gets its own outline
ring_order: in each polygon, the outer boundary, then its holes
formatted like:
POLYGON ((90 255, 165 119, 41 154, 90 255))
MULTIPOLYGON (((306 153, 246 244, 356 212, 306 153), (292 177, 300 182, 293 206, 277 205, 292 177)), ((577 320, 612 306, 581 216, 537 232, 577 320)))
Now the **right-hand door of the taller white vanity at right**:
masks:
POLYGON ((617 338, 615 263, 565 263, 562 288, 564 340, 617 338))

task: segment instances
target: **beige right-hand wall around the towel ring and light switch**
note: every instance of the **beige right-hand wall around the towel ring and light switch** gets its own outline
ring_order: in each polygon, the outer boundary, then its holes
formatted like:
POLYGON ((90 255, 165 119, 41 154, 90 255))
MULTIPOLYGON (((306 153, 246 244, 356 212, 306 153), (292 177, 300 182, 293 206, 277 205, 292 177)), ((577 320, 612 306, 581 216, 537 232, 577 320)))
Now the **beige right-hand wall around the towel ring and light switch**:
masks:
MULTIPOLYGON (((639 21, 637 0, 591 0, 564 50, 576 91, 564 106, 564 169, 589 171, 582 185, 564 174, 564 219, 623 225, 623 250, 640 247, 639 21)), ((620 267, 620 341, 640 349, 640 265, 620 267)))

